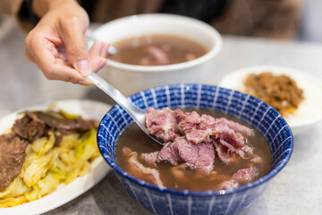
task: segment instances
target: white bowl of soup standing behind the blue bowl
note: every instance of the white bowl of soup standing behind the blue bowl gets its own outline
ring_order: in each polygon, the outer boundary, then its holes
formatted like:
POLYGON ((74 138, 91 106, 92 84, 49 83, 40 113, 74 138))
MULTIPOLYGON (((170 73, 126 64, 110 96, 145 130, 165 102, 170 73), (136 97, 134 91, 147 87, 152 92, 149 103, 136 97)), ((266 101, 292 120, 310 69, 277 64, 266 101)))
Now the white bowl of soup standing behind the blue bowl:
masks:
MULTIPOLYGON (((107 43, 147 34, 166 34, 192 39, 207 47, 208 53, 181 64, 152 66, 123 64, 107 59, 106 66, 99 74, 126 96, 170 83, 203 82, 222 47, 222 38, 212 26, 174 14, 150 13, 127 16, 107 22, 93 32, 96 39, 107 43)), ((91 41, 89 45, 92 43, 91 41)))

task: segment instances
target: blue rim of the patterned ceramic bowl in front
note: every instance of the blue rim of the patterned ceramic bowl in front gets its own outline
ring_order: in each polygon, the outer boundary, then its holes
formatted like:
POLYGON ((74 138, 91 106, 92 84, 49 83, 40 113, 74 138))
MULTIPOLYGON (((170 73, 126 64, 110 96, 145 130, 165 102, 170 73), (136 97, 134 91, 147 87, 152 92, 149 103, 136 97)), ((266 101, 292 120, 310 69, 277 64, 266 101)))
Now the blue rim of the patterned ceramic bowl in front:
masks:
MULTIPOLYGON (((131 95, 129 98, 133 99, 137 96, 140 96, 141 93, 145 93, 148 92, 151 89, 159 89, 159 88, 165 88, 165 87, 172 87, 172 86, 180 86, 182 84, 168 84, 168 85, 163 85, 163 86, 159 86, 156 88, 150 88, 148 90, 142 90, 138 93, 135 93, 133 95, 131 95)), ((206 87, 216 87, 219 89, 225 89, 225 90, 229 90, 229 91, 237 91, 237 90, 232 90, 232 89, 227 89, 224 87, 220 87, 220 86, 216 86, 216 85, 209 85, 209 84, 199 84, 199 83, 184 83, 184 86, 191 86, 191 85, 197 85, 197 86, 206 86, 206 87)), ((243 93, 241 91, 238 91, 242 94, 246 94, 243 93)), ((248 95, 248 94, 246 94, 248 95)), ((257 102, 261 102, 267 105, 267 103, 261 101, 260 99, 257 99, 255 97, 250 96, 250 98, 256 100, 257 102)), ((272 111, 274 111, 275 114, 279 115, 278 112, 271 106, 267 105, 267 107, 270 107, 270 109, 272 111)), ((109 109, 106 113, 106 115, 102 118, 101 122, 99 123, 98 129, 97 129, 97 146, 98 149, 100 151, 100 154, 102 155, 102 157, 106 160, 106 162, 108 163, 108 165, 113 168, 113 170, 116 172, 116 174, 120 174, 124 177, 126 177, 128 180, 130 180, 131 182, 135 183, 136 185, 142 185, 145 187, 148 187, 149 189, 152 189, 153 191, 157 191, 157 192, 165 192, 165 193, 171 193, 171 194, 175 194, 175 195, 191 195, 191 196, 203 196, 203 197, 207 197, 207 196, 221 196, 221 195, 229 195, 229 194, 233 194, 233 193, 241 193, 244 192, 250 188, 256 187, 258 185, 263 185, 265 182, 268 182, 268 180, 270 180, 271 178, 273 178, 274 176, 277 175, 277 173, 279 173, 284 167, 285 165, 289 162, 289 160, 291 159, 292 156, 292 150, 293 150, 293 135, 292 135, 292 130, 290 128, 290 126, 287 124, 287 122, 284 120, 283 116, 281 116, 281 119, 284 122, 284 125, 288 127, 288 129, 286 130, 287 135, 289 136, 288 138, 291 138, 290 140, 290 147, 287 149, 289 151, 287 157, 283 160, 281 160, 276 166, 275 168, 271 168, 270 171, 267 173, 267 175, 262 176, 260 178, 258 178, 257 180, 250 182, 246 185, 241 185, 238 186, 236 188, 233 189, 226 189, 226 190, 208 190, 208 191, 189 191, 189 190, 176 190, 176 189, 171 189, 171 188, 166 188, 166 187, 159 187, 157 185, 152 185, 144 180, 141 180, 139 178, 136 178, 134 176, 131 176, 130 174, 128 174, 126 171, 123 171, 122 168, 120 168, 117 165, 117 162, 114 162, 112 159, 106 158, 105 156, 103 156, 103 151, 101 150, 101 148, 99 147, 100 143, 100 137, 98 136, 98 132, 101 129, 101 127, 103 127, 101 125, 102 121, 109 115, 110 112, 114 111, 115 109, 119 110, 120 107, 119 105, 114 105, 111 109, 109 109), (284 161, 284 162, 282 162, 284 161)), ((280 115, 279 115, 280 116, 280 115)), ((123 132, 123 131, 122 131, 123 132)), ((121 135, 122 133, 120 133, 121 135)), ((287 138, 287 139, 288 139, 287 138)), ((103 138, 102 138, 103 139, 103 138)), ((115 145, 116 146, 116 145, 115 145)), ((285 151, 287 151, 285 150, 285 151)))

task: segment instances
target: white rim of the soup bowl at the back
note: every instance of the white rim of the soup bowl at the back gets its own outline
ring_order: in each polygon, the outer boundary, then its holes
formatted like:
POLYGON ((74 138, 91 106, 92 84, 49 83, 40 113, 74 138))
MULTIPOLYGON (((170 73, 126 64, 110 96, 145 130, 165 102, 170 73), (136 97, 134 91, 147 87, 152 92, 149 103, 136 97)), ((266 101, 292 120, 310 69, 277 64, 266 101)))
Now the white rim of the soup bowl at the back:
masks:
MULTIPOLYGON (((125 16, 111 22, 106 22, 102 26, 98 27, 97 30, 94 30, 93 33, 97 38, 99 38, 97 34, 99 34, 100 31, 104 31, 105 28, 111 25, 117 24, 118 22, 126 22, 128 20, 140 20, 140 19, 144 20, 144 19, 151 19, 151 18, 160 19, 161 21, 164 18, 175 19, 175 20, 181 20, 182 22, 191 22, 193 24, 199 25, 200 28, 203 28, 204 30, 208 31, 210 35, 209 38, 212 38, 215 41, 215 46, 209 49, 205 55, 199 56, 198 58, 193 59, 191 61, 186 61, 179 64, 135 65, 135 64, 123 64, 123 63, 115 62, 110 59, 106 59, 106 64, 113 66, 114 68, 128 70, 128 71, 137 72, 137 73, 173 72, 174 70, 183 70, 183 69, 207 62, 210 58, 212 58, 213 56, 216 56, 223 46, 223 39, 220 33, 208 23, 199 21, 197 19, 194 19, 188 16, 170 14, 170 13, 144 13, 144 14, 125 16)), ((169 35, 171 34, 169 33, 169 35)))

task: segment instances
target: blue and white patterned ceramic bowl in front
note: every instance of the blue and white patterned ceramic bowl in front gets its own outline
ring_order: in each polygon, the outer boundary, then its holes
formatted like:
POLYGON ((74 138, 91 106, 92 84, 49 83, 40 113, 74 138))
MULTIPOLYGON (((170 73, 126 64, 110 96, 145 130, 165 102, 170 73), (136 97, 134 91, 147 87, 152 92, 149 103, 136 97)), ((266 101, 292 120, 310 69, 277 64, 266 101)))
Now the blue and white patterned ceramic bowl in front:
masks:
POLYGON ((131 96, 140 108, 206 108, 241 118, 263 133, 270 145, 273 162, 267 176, 231 190, 191 192, 163 189, 148 184, 124 172, 115 158, 115 146, 120 134, 132 119, 116 105, 106 113, 97 133, 97 143, 106 162, 124 189, 141 206, 156 214, 235 214, 250 206, 266 189, 268 181, 288 162, 292 154, 293 137, 289 125, 275 109, 263 101, 240 91, 201 84, 166 85, 141 91, 131 96))

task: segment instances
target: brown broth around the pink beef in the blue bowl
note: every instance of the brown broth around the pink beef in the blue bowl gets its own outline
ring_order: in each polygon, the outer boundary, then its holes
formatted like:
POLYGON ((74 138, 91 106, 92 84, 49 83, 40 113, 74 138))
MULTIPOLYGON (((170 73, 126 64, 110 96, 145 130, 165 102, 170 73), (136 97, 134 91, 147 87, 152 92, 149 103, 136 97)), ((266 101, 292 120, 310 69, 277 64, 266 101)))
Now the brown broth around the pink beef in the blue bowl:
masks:
MULTIPOLYGON (((191 109, 184 109, 184 111, 191 111, 191 109)), ((214 112, 211 110, 196 110, 199 114, 208 114, 214 117, 226 117, 233 121, 237 121, 242 125, 247 125, 243 123, 241 120, 233 117, 227 116, 223 113, 214 112)), ((250 125, 247 125, 251 127, 250 125)), ((177 180, 171 172, 172 166, 169 163, 161 162, 157 164, 157 170, 160 173, 161 180, 165 187, 172 189, 180 189, 180 190, 191 190, 191 191, 206 191, 206 190, 217 190, 219 189, 219 185, 225 181, 229 180, 233 173, 235 173, 238 169, 241 168, 250 168, 251 166, 258 169, 258 174, 254 178, 257 180, 258 178, 267 175, 271 168, 272 163, 272 154, 271 150, 267 144, 264 136, 259 133, 256 129, 254 129, 255 135, 248 137, 247 142, 250 147, 253 147, 254 154, 257 154, 261 159, 263 159, 262 163, 254 164, 249 159, 239 159, 238 162, 233 164, 224 164, 221 160, 215 159, 215 171, 217 172, 216 176, 204 176, 197 173, 195 170, 187 169, 185 170, 184 179, 177 180)), ((122 149, 123 147, 129 147, 133 151, 137 151, 140 153, 148 153, 156 150, 160 150, 162 147, 157 144, 157 142, 152 141, 147 134, 143 133, 138 125, 132 124, 130 125, 120 136, 117 145, 116 145, 116 160, 120 168, 123 168, 124 171, 129 172, 131 174, 131 169, 128 165, 128 158, 124 157, 122 149)), ((138 157, 139 161, 148 167, 148 164, 145 163, 144 160, 138 157)), ((151 167, 153 168, 153 167, 151 167)), ((133 174, 131 174, 133 175, 133 174)), ((135 175, 142 180, 148 181, 148 178, 144 176, 135 175)), ((254 181, 253 180, 253 181, 254 181)), ((246 183, 245 183, 246 184, 246 183)), ((240 185, 243 185, 240 183, 240 185)))

